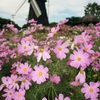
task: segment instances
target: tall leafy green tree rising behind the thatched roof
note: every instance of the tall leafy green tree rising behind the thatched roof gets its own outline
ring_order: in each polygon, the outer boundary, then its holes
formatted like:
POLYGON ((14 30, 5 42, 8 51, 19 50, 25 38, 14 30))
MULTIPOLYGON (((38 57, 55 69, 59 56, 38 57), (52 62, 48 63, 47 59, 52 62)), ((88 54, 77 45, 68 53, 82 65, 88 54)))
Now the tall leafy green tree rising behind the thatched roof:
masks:
POLYGON ((87 6, 85 6, 84 13, 85 15, 90 14, 97 16, 97 18, 100 19, 100 5, 98 5, 96 2, 88 3, 87 6))

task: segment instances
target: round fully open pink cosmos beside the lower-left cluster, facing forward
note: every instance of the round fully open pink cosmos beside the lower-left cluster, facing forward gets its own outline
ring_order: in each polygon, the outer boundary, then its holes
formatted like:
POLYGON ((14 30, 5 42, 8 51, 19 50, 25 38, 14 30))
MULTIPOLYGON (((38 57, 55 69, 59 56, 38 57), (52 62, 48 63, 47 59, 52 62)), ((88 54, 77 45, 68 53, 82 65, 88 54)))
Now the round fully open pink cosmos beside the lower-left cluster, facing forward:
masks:
POLYGON ((43 65, 34 66, 35 71, 32 72, 32 80, 37 84, 41 84, 49 78, 48 68, 43 65))

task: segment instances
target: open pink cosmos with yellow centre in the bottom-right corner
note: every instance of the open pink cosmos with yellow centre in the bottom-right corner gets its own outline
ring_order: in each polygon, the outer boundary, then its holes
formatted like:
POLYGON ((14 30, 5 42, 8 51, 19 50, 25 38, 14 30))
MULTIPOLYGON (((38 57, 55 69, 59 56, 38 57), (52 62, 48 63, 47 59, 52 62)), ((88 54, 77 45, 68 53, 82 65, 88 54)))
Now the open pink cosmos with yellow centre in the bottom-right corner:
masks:
POLYGON ((86 99, 91 99, 91 100, 98 100, 98 92, 100 92, 99 90, 99 83, 98 82, 90 82, 90 84, 88 85, 87 83, 83 84, 83 88, 81 89, 82 93, 85 93, 85 98, 86 99))

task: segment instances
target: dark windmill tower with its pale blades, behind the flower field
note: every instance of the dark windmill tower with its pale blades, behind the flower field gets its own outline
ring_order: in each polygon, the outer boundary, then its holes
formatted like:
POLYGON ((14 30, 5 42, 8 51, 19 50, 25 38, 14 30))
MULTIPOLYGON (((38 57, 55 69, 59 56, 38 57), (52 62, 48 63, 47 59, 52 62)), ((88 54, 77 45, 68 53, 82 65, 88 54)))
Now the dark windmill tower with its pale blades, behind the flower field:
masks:
MULTIPOLYGON (((12 17, 14 19, 14 16, 17 14, 17 12, 20 10, 20 8, 24 5, 24 3, 27 0, 23 0, 20 5, 17 7, 14 14, 12 14, 12 17)), ((28 0, 30 7, 29 7, 29 14, 28 19, 31 20, 34 19, 37 21, 37 24, 42 24, 44 26, 49 26, 47 11, 45 7, 45 2, 47 0, 28 0)), ((49 1, 48 1, 48 8, 49 8, 49 1)))

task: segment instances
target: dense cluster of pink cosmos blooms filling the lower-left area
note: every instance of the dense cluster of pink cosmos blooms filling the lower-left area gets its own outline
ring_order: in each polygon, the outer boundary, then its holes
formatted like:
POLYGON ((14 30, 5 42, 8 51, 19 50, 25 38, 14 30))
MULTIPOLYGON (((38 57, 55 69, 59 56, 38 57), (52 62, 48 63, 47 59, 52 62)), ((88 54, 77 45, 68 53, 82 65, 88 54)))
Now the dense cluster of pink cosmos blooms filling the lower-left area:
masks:
POLYGON ((49 78, 48 68, 43 65, 34 66, 34 70, 28 62, 14 64, 12 69, 16 68, 15 75, 2 77, 0 91, 3 89, 6 100, 25 100, 25 92, 32 86, 32 81, 37 84, 44 83, 49 78), (15 66, 14 66, 15 65, 15 66))

